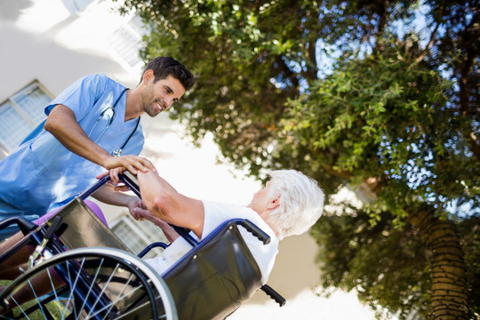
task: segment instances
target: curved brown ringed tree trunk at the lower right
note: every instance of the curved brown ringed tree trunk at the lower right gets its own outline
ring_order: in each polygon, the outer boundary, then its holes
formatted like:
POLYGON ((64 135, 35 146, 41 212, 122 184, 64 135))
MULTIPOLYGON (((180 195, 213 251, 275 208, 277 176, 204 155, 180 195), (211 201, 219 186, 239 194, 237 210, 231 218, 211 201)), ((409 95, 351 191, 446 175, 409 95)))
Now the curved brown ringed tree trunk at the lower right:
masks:
POLYGON ((408 220, 430 251, 430 319, 468 319, 466 268, 455 225, 439 220, 428 208, 412 212, 408 220))

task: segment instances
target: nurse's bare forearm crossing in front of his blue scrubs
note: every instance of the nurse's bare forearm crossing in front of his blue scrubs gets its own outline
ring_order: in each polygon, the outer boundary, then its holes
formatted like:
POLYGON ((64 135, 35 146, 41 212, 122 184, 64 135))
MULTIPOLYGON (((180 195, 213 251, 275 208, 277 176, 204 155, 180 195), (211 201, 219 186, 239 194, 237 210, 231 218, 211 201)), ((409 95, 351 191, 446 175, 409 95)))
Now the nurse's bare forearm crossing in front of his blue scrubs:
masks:
POLYGON ((109 157, 108 152, 93 142, 84 129, 76 122, 74 112, 63 105, 57 105, 48 116, 44 129, 60 141, 71 152, 82 156, 94 164, 105 167, 109 157))

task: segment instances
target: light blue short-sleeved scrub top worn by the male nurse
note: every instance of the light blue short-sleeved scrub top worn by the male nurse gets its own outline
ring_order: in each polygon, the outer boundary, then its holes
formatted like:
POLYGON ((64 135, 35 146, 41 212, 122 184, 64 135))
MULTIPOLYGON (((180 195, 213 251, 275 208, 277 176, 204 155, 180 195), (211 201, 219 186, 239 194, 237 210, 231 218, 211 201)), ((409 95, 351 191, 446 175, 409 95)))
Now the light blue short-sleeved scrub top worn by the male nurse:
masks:
MULTIPOLYGON (((45 108, 62 104, 72 109, 76 121, 87 134, 100 118, 101 112, 113 106, 124 86, 108 76, 84 76, 70 85, 45 108)), ((137 119, 124 122, 126 92, 116 104, 116 116, 97 144, 111 154, 121 148, 132 134, 137 119)), ((107 125, 104 117, 92 132, 97 140, 107 125)), ((144 137, 141 124, 124 147, 123 155, 140 155, 144 137)), ((98 164, 77 156, 56 140, 39 124, 10 156, 0 162, 0 220, 22 215, 36 219, 61 205, 67 204, 96 181, 95 176, 106 170, 98 164)))

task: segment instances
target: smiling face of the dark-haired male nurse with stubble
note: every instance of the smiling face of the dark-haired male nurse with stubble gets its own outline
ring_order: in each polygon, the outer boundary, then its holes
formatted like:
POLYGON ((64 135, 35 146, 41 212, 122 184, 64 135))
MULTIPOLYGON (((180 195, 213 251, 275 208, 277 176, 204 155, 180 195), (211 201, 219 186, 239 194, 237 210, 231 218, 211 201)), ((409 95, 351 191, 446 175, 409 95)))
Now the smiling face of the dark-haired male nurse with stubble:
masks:
POLYGON ((156 116, 172 107, 174 102, 180 100, 183 93, 185 93, 183 85, 173 76, 167 76, 156 83, 151 76, 141 92, 142 108, 148 116, 156 116))

